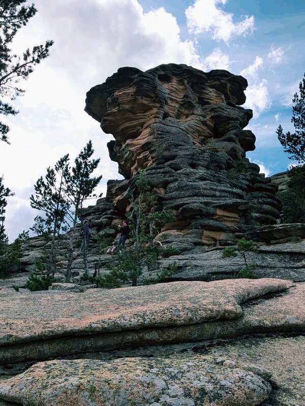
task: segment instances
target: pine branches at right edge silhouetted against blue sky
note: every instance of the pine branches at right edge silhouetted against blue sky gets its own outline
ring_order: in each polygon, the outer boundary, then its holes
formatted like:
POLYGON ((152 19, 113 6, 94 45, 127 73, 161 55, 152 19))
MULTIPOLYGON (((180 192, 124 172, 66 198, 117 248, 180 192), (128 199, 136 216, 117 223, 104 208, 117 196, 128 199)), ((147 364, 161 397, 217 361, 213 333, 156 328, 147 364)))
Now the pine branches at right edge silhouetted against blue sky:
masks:
POLYGON ((283 128, 279 125, 277 129, 278 139, 284 151, 288 152, 289 159, 297 161, 299 164, 305 163, 305 74, 299 84, 299 94, 295 93, 292 99, 291 122, 295 132, 290 131, 284 134, 283 128))

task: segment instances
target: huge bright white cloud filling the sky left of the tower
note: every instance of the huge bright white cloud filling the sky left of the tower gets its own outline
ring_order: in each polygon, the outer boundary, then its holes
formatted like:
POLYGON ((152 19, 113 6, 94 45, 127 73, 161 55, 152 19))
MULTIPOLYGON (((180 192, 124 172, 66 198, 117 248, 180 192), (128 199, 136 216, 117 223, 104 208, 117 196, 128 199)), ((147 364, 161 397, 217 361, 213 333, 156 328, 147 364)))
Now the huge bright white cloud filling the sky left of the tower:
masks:
POLYGON ((14 50, 20 53, 49 38, 54 45, 50 57, 20 82, 26 93, 13 103, 19 115, 6 119, 12 144, 0 149, 0 174, 16 193, 6 213, 10 239, 32 225, 36 212, 28 198, 46 167, 68 152, 73 160, 89 139, 101 157, 98 193, 105 194, 108 179, 121 178, 106 148, 112 136, 83 111, 86 91, 121 66, 147 70, 174 62, 201 67, 195 43, 181 40, 175 17, 164 8, 144 13, 137 0, 75 1, 73 7, 71 0, 51 5, 36 0, 35 5, 38 13, 18 32, 14 50))

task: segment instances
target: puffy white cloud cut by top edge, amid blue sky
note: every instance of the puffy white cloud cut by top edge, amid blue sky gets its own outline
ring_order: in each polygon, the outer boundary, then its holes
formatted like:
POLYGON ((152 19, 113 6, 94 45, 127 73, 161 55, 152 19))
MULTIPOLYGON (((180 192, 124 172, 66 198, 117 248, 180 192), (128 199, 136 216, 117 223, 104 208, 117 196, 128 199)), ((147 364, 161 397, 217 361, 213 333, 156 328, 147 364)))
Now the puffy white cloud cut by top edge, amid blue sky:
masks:
POLYGON ((232 13, 218 8, 226 3, 227 0, 196 0, 186 10, 189 32, 195 35, 211 32, 212 39, 226 43, 233 37, 253 32, 254 16, 243 16, 242 21, 234 23, 232 13))

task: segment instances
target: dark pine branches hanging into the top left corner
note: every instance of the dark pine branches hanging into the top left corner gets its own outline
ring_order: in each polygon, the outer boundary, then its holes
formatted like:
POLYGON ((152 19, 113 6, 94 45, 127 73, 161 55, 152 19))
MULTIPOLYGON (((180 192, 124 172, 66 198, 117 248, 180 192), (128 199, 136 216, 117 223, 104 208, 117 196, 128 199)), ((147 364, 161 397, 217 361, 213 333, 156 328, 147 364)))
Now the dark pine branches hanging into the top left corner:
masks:
MULTIPOLYGON (((24 6, 26 0, 0 0, 0 96, 14 100, 24 93, 18 87, 20 79, 27 79, 34 71, 35 65, 49 56, 49 48, 53 41, 46 41, 45 45, 36 45, 32 51, 26 49, 22 56, 12 52, 10 44, 17 31, 27 24, 36 14, 34 4, 24 6)), ((0 114, 8 116, 18 113, 7 101, 0 100, 0 114)), ((0 140, 9 143, 8 125, 0 121, 0 140)))

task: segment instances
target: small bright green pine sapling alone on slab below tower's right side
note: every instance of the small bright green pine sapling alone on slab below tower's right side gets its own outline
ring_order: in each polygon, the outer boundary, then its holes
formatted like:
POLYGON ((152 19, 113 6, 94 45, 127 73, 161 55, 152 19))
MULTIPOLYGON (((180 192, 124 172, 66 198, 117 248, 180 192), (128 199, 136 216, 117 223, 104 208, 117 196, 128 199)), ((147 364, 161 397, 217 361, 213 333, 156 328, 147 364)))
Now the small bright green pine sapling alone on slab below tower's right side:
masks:
POLYGON ((237 278, 248 278, 248 279, 256 279, 256 275, 252 272, 255 269, 254 264, 249 264, 246 257, 246 252, 257 252, 259 249, 259 245, 256 244, 252 240, 246 240, 245 238, 240 239, 236 244, 236 249, 232 247, 227 247, 222 251, 222 258, 235 258, 237 257, 236 251, 241 255, 243 261, 245 262, 245 266, 239 270, 239 272, 235 272, 232 276, 233 279, 237 278))

